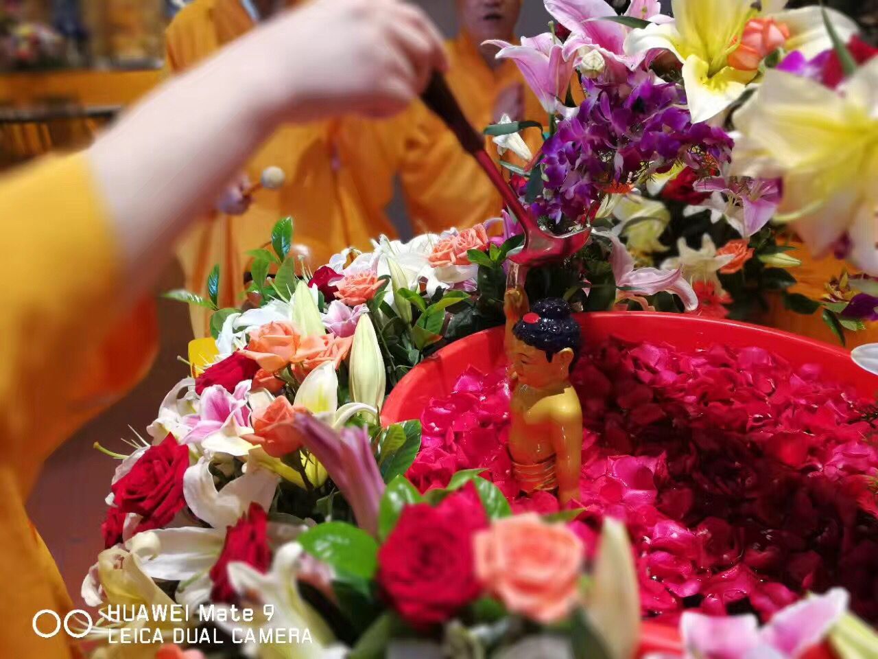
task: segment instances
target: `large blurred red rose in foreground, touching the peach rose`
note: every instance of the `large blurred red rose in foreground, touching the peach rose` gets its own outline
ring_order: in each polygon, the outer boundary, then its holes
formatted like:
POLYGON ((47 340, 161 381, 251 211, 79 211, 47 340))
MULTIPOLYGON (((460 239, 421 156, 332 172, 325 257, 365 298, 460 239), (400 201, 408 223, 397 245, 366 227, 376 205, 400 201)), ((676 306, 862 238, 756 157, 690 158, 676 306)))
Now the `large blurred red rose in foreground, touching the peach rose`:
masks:
POLYGON ((486 525, 471 484, 436 508, 407 506, 378 552, 378 583, 393 608, 422 628, 450 619, 479 597, 472 534, 486 525))

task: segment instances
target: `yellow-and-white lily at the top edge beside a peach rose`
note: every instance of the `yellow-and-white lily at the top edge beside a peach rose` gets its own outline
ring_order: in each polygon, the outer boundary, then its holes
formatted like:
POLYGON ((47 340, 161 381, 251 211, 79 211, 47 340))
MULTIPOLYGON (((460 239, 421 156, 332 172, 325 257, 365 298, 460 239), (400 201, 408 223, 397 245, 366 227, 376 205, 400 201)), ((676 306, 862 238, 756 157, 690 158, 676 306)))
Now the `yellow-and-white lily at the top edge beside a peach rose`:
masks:
MULTIPOLYGON (((625 53, 654 48, 673 53, 683 63, 692 120, 706 121, 738 100, 759 73, 758 69, 735 69, 729 63, 729 55, 738 48, 751 19, 774 18, 785 25, 789 34, 783 46, 786 50, 813 56, 831 47, 819 7, 781 11, 785 4, 786 0, 765 0, 759 11, 752 0, 673 0, 673 21, 632 31, 625 40, 625 53)), ((856 32, 850 18, 829 11, 842 39, 856 32)))

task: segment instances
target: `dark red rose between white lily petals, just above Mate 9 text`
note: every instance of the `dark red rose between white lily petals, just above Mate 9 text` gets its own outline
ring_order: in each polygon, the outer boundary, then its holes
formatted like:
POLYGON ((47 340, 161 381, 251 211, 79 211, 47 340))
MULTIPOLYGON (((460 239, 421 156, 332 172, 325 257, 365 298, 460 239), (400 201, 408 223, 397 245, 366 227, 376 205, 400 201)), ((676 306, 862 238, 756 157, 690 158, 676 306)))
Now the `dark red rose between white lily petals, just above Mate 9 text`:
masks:
POLYGON ((250 509, 238 523, 227 527, 226 543, 219 554, 219 560, 211 568, 212 601, 235 604, 238 600, 228 579, 229 563, 247 563, 263 574, 268 571, 271 567, 271 550, 267 530, 268 515, 258 503, 250 503, 250 509))

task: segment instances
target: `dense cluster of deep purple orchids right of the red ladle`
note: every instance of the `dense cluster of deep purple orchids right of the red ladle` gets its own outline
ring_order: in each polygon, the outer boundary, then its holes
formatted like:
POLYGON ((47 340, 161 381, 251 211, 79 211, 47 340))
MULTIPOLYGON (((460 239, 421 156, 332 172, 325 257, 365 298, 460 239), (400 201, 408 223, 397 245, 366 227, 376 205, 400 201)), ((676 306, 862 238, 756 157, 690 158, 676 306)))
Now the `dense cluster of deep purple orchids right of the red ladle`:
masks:
POLYGON ((651 73, 625 83, 583 80, 586 100, 543 145, 543 195, 531 211, 556 223, 590 216, 608 193, 627 192, 682 161, 709 171, 730 160, 722 129, 692 124, 679 85, 651 73))

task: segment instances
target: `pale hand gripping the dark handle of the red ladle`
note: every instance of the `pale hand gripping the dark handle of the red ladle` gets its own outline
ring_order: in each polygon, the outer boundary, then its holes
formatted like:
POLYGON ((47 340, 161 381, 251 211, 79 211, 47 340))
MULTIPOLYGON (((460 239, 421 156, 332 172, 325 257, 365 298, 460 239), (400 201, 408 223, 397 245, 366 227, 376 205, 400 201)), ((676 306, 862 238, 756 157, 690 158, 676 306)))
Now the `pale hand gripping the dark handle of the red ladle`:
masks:
POLYGON ((252 36, 254 69, 284 120, 391 115, 448 68, 435 26, 398 0, 317 0, 252 36))

